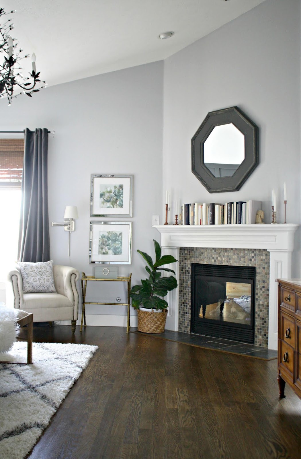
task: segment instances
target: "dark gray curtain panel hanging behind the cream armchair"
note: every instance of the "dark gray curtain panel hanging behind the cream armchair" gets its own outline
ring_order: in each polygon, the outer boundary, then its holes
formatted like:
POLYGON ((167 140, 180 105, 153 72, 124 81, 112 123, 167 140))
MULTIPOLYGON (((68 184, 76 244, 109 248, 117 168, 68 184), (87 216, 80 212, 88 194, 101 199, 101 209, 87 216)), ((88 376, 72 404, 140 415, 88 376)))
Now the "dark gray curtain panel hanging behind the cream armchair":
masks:
POLYGON ((48 129, 25 129, 18 260, 50 260, 48 185, 48 129))

